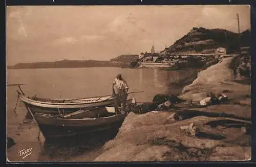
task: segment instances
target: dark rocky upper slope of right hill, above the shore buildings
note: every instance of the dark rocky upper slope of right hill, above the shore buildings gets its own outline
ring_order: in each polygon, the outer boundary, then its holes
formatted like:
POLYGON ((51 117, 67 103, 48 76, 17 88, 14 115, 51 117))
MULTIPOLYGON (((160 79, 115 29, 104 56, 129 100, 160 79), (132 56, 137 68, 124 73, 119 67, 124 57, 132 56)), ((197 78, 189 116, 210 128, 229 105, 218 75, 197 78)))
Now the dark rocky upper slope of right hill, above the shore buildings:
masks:
MULTIPOLYGON (((240 33, 240 45, 250 45, 250 30, 240 33)), ((175 53, 214 53, 217 47, 227 47, 236 52, 239 34, 224 29, 193 28, 173 45, 160 52, 161 55, 175 53)))

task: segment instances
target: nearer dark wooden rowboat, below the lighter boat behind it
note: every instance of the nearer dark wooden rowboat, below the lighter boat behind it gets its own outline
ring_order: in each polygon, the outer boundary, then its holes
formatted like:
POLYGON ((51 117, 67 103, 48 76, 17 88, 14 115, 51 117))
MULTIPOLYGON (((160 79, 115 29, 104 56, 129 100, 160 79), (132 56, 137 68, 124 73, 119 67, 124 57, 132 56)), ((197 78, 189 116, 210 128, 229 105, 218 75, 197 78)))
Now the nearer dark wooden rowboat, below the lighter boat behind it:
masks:
MULTIPOLYGON (((102 108, 101 113, 94 117, 81 118, 63 118, 43 113, 33 113, 45 139, 53 139, 57 137, 73 136, 95 131, 102 131, 110 128, 119 128, 126 116, 125 112, 113 113, 114 107, 102 108)), ((88 111, 90 113, 90 111, 88 111)), ((87 113, 87 111, 84 111, 87 113)), ((92 113, 92 112, 91 112, 92 113)))

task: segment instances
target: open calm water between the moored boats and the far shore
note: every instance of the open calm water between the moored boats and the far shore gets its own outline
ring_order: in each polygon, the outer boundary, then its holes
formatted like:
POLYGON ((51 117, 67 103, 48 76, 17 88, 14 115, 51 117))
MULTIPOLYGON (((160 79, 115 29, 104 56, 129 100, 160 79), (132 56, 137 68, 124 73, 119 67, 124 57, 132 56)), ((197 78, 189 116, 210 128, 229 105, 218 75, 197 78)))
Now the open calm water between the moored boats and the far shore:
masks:
POLYGON ((122 74, 130 94, 138 102, 152 101, 156 93, 166 93, 170 84, 178 84, 188 75, 185 71, 127 69, 115 67, 8 69, 8 84, 22 83, 26 95, 45 98, 83 98, 112 93, 112 82, 122 74))

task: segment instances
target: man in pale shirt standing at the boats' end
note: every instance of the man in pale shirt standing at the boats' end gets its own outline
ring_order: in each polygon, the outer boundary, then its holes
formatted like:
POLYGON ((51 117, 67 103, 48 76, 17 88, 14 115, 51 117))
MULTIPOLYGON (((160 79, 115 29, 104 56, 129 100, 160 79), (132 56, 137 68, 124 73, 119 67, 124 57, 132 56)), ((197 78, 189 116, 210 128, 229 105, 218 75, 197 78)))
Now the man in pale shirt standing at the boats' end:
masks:
POLYGON ((126 102, 127 102, 127 92, 128 92, 128 85, 126 81, 122 78, 121 74, 118 74, 112 84, 113 95, 116 97, 115 103, 115 110, 119 112, 118 107, 121 107, 122 110, 126 110, 126 102), (115 89, 116 88, 116 89, 115 89))

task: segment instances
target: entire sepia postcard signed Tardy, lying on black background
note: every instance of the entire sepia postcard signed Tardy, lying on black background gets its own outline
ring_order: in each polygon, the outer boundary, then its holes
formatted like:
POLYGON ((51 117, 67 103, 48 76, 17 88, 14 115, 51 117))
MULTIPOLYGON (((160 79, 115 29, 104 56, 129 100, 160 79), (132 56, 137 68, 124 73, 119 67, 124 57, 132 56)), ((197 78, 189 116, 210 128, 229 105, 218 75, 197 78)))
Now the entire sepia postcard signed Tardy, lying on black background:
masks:
POLYGON ((7 161, 251 159, 250 6, 7 6, 7 161))

